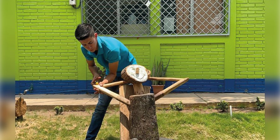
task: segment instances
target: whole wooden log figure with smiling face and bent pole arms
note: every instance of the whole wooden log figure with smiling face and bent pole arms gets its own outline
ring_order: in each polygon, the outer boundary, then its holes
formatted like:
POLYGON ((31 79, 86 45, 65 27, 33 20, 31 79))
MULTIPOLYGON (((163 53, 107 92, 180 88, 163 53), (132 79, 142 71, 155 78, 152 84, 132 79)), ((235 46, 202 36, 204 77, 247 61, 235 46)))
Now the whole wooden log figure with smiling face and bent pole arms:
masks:
POLYGON ((120 139, 158 140, 155 101, 175 88, 188 82, 189 78, 150 77, 151 71, 141 65, 129 65, 121 72, 124 81, 93 85, 102 93, 120 101, 120 139), (143 86, 147 80, 177 81, 156 95, 149 93, 150 87, 143 86), (125 85, 132 83, 133 85, 125 85), (105 87, 119 86, 119 95, 105 87), (145 121, 143 121, 145 120, 145 121))

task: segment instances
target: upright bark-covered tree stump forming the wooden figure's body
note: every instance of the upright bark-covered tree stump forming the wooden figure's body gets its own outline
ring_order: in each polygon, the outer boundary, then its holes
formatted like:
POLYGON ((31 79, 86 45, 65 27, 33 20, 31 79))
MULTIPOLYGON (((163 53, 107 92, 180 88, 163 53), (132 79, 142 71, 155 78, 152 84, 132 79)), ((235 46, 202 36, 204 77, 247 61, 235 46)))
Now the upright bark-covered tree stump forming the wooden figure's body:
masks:
POLYGON ((158 140, 155 97, 152 93, 130 96, 131 135, 138 140, 158 140))

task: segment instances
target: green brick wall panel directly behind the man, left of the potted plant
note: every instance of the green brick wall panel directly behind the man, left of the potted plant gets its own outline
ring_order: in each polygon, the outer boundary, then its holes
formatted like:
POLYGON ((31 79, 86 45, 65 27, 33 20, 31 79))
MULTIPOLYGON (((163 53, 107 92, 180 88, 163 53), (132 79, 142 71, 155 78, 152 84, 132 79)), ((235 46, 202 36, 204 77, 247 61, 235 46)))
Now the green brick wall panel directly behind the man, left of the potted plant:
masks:
MULTIPOLYGON (((150 68, 150 45, 137 45, 137 44, 124 44, 128 50, 133 54, 133 56, 136 58, 137 64, 144 66, 145 68, 150 68)), ((97 63, 97 61, 96 61, 97 63)), ((88 65, 86 65, 87 67, 88 65)), ((97 63, 97 66, 100 67, 100 65, 97 63)), ((102 66, 100 67, 103 68, 102 66)), ((86 80, 92 80, 92 74, 87 69, 86 72, 86 80)))

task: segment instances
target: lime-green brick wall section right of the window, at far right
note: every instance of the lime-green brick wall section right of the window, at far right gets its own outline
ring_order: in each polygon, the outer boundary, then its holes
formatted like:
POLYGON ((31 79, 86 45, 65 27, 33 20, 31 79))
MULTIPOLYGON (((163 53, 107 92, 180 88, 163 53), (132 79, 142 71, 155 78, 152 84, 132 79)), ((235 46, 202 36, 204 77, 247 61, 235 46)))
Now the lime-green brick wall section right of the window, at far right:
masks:
POLYGON ((235 78, 264 78, 264 0, 236 2, 235 78))

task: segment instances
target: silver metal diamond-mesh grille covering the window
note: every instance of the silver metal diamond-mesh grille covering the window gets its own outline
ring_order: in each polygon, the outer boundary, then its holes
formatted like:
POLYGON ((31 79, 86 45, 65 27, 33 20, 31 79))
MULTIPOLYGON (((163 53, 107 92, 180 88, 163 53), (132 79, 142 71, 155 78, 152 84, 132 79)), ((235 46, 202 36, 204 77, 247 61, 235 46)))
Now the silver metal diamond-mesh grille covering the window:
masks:
POLYGON ((229 35, 230 0, 83 0, 81 9, 104 36, 229 35))

